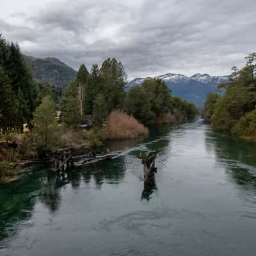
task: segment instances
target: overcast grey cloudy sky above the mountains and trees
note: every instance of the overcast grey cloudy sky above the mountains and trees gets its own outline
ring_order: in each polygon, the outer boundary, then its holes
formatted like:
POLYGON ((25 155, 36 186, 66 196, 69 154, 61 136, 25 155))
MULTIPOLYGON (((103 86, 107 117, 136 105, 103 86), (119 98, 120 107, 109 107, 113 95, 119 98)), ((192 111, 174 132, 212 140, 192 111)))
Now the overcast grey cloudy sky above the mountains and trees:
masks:
POLYGON ((77 69, 108 57, 129 78, 225 75, 256 51, 255 0, 0 0, 0 33, 77 69))

